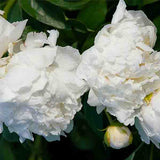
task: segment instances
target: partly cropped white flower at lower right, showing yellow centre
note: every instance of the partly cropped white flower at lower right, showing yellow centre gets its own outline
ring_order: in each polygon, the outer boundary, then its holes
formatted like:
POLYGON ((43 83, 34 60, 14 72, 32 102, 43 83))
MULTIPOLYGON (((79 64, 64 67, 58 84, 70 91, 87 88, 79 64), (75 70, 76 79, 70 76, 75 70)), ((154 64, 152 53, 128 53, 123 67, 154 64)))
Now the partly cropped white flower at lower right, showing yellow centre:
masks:
POLYGON ((155 91, 146 98, 141 109, 141 118, 136 120, 136 128, 141 139, 149 144, 152 141, 160 148, 160 91, 155 91))

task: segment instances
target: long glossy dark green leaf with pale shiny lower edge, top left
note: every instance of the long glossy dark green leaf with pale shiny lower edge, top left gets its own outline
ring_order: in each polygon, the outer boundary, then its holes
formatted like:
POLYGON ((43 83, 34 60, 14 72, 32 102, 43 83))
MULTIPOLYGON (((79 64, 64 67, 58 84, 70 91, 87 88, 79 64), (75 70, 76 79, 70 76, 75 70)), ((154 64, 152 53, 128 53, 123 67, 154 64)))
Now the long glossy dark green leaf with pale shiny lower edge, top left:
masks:
POLYGON ((36 20, 49 26, 66 29, 63 11, 45 1, 20 0, 20 4, 25 12, 36 20))

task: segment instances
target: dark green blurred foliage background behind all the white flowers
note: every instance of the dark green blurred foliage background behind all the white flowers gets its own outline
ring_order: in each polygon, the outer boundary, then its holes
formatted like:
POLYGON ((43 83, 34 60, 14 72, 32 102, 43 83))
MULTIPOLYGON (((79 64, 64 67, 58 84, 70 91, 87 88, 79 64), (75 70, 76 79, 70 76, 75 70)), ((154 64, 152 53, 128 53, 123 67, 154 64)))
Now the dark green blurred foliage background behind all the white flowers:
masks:
MULTIPOLYGON (((127 9, 143 10, 157 27, 156 50, 160 50, 160 0, 125 0, 127 9)), ((94 43, 97 32, 111 22, 118 0, 0 0, 0 9, 9 22, 28 19, 22 35, 30 31, 57 29, 57 44, 71 45, 83 53, 94 43)), ((35 141, 21 144, 15 133, 4 126, 0 135, 0 160, 159 160, 160 151, 143 144, 134 127, 133 143, 115 150, 104 142, 102 129, 109 125, 105 113, 98 115, 82 97, 83 109, 74 118, 74 129, 61 141, 47 142, 35 135, 35 141)), ((112 117, 116 120, 114 117, 112 117)))

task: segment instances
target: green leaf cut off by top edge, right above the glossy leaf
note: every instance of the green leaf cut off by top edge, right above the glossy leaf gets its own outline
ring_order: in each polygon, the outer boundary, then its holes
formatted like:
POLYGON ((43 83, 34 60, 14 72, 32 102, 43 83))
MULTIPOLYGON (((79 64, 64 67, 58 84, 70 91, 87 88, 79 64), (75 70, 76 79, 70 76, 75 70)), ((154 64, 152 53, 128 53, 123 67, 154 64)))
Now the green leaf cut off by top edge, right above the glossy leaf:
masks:
POLYGON ((90 0, 47 0, 48 2, 67 10, 83 8, 90 0))

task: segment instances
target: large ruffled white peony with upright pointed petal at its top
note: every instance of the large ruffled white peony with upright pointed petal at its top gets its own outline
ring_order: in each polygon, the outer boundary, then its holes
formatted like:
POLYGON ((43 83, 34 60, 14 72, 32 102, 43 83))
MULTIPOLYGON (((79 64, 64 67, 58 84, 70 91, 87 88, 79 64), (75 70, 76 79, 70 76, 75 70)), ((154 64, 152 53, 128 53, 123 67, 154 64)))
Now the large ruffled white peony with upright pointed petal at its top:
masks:
POLYGON ((120 0, 112 23, 85 51, 78 75, 90 86, 88 103, 105 107, 125 125, 134 124, 144 98, 160 87, 160 54, 153 51, 156 28, 142 11, 120 0))

